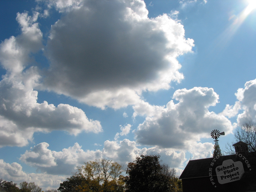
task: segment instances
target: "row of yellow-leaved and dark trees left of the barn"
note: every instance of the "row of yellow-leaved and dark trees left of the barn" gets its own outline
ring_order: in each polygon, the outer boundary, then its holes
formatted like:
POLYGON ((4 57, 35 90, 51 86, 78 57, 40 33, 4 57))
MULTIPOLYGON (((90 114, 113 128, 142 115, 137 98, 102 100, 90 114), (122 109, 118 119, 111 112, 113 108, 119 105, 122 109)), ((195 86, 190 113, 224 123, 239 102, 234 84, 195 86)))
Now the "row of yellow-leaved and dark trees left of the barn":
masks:
POLYGON ((100 159, 77 167, 60 192, 182 192, 174 168, 161 165, 160 155, 140 155, 128 164, 126 176, 117 162, 100 159))

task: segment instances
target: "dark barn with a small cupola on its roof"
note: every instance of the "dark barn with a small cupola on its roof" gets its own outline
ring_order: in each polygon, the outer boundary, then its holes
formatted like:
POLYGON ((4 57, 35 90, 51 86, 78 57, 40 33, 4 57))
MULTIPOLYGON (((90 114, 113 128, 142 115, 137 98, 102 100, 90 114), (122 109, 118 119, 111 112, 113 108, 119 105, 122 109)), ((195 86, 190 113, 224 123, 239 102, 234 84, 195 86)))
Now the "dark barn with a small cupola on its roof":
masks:
POLYGON ((235 154, 191 160, 180 175, 183 192, 256 192, 256 152, 246 143, 235 154))

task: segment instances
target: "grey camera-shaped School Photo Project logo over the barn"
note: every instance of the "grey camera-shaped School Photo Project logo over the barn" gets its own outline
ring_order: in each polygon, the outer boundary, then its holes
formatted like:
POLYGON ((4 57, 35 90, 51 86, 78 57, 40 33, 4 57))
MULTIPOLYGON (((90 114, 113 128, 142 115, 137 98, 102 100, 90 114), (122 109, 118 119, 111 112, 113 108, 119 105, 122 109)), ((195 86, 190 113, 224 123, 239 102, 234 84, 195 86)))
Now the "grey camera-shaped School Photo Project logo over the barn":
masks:
POLYGON ((238 181, 245 172, 242 162, 234 162, 232 159, 223 161, 222 165, 215 168, 215 171, 220 184, 238 181))

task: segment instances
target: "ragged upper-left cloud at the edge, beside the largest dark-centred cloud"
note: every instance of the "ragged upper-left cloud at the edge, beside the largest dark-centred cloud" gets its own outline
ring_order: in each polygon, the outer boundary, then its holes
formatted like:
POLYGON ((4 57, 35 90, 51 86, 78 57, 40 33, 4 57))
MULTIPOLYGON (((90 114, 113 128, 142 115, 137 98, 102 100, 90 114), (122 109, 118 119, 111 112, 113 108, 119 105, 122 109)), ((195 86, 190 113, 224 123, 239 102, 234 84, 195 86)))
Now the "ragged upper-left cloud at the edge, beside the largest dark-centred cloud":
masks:
POLYGON ((42 32, 36 23, 38 14, 17 13, 16 20, 21 27, 21 35, 12 36, 0 44, 0 62, 7 72, 14 74, 23 71, 29 64, 31 52, 42 48, 42 32))

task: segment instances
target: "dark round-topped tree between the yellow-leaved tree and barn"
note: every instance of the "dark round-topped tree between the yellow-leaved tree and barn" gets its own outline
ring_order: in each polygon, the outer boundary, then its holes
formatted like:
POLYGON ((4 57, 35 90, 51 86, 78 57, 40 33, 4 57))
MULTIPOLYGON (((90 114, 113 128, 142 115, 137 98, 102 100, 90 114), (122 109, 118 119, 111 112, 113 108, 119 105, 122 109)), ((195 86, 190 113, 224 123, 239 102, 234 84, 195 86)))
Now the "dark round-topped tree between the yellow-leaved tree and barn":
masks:
MULTIPOLYGON (((160 155, 141 155, 128 164, 126 192, 171 192, 171 176, 160 165, 160 155)), ((165 168, 163 168, 165 167, 165 168)))

